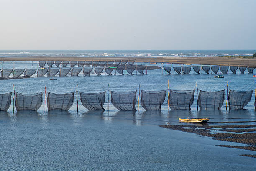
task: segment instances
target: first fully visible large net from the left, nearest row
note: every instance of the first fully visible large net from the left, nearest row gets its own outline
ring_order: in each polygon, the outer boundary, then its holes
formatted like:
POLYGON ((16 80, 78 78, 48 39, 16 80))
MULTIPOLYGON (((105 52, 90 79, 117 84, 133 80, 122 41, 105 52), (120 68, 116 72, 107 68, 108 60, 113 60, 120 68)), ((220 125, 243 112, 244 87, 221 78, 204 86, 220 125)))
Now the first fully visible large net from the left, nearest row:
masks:
POLYGON ((15 107, 20 110, 35 110, 37 111, 43 103, 43 93, 22 94, 16 93, 15 107))

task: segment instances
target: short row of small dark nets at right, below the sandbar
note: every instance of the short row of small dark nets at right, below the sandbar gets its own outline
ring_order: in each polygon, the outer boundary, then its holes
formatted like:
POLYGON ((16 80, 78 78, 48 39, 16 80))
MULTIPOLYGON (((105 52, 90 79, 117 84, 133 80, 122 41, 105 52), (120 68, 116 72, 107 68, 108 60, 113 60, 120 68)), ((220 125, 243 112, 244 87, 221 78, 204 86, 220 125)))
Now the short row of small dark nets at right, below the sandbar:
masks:
POLYGON ((195 73, 202 74, 202 71, 204 73, 209 74, 209 72, 213 72, 214 74, 218 74, 218 71, 221 71, 223 74, 228 73, 231 71, 232 73, 244 73, 247 69, 248 73, 253 73, 253 70, 256 68, 256 66, 163 66, 163 69, 166 71, 166 73, 172 74, 173 70, 178 74, 189 74, 192 69, 195 71, 195 73), (239 69, 238 69, 239 68, 239 69))

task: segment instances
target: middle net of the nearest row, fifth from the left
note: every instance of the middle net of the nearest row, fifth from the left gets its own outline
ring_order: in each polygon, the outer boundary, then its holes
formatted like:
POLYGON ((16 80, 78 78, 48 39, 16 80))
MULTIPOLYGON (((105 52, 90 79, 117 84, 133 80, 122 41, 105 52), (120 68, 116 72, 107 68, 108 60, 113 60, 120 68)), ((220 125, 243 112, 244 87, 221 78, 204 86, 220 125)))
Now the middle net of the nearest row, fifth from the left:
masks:
POLYGON ((111 103, 118 110, 134 110, 136 111, 136 92, 113 92, 111 91, 111 103))

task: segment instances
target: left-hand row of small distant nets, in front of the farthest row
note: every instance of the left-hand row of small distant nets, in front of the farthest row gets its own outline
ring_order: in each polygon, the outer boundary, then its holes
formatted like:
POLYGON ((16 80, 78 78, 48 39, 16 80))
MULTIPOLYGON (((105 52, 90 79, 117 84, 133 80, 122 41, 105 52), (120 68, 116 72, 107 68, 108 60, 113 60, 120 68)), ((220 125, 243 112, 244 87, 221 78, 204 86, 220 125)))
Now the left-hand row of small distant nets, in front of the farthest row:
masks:
POLYGON ((13 74, 13 77, 20 77, 24 73, 24 77, 31 77, 37 72, 37 77, 47 76, 56 76, 59 74, 60 77, 67 76, 70 73, 71 76, 78 76, 78 74, 83 71, 84 76, 90 76, 92 71, 95 74, 101 75, 102 73, 112 75, 112 71, 116 70, 121 75, 125 74, 133 75, 134 71, 145 74, 144 70, 147 66, 118 66, 118 67, 72 67, 72 68, 38 68, 38 69, 1 69, 1 77, 10 77, 13 74))

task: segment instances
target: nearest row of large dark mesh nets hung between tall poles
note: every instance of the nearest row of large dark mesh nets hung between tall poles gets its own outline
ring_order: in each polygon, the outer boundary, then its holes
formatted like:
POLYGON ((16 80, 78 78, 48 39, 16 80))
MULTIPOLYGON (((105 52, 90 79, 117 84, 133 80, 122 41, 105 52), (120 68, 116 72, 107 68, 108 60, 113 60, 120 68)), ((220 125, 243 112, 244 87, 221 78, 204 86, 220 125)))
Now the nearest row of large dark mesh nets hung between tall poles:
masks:
MULTIPOLYGON (((194 102, 195 90, 177 91, 170 90, 168 94, 168 105, 171 110, 190 110, 194 102)), ((244 109, 251 101, 253 90, 235 91, 229 90, 227 105, 229 110, 244 109)), ((79 92, 82 105, 88 110, 105 110, 106 92, 86 93, 79 92)), ((139 102, 145 110, 161 110, 164 103, 166 90, 160 91, 140 91, 138 95, 139 102)), ((108 97, 109 99, 109 97, 108 97)), ((137 91, 115 92, 110 91, 111 103, 118 110, 136 111, 137 91)), ((206 92, 199 90, 197 96, 197 106, 200 110, 220 110, 225 100, 225 90, 216 92, 206 92)), ((12 92, 0 94, 0 110, 7 111, 11 105, 12 92)), ((13 98, 14 102, 14 98, 13 98)), ((15 92, 16 110, 35 110, 37 111, 43 102, 43 92, 36 94, 22 94, 15 92)), ((108 101, 109 102, 109 101, 108 101)), ((65 94, 47 94, 48 110, 66 110, 68 111, 74 103, 74 92, 65 94)), ((109 104, 108 104, 109 105, 109 104)), ((254 102, 255 106, 255 102, 254 102)), ((139 106, 138 106, 139 107, 139 106)), ((139 108, 138 108, 139 109, 139 108)), ((77 101, 78 110, 78 101, 77 101)))

